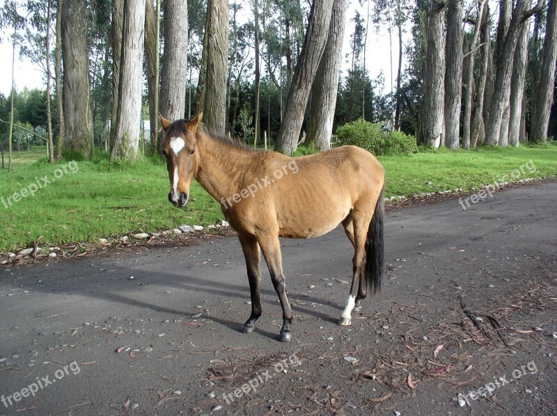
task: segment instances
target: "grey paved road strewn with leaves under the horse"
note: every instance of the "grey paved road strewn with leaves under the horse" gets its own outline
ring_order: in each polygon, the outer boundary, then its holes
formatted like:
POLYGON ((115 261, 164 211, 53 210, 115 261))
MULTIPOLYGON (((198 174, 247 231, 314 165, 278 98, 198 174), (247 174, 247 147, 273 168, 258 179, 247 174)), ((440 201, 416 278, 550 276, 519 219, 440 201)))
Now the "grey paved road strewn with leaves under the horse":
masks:
POLYGON ((290 344, 266 270, 264 314, 238 332, 250 306, 235 237, 0 269, 0 415, 554 413, 556 207, 549 183, 466 210, 391 209, 382 294, 350 328, 336 325, 344 232, 283 240, 290 344))

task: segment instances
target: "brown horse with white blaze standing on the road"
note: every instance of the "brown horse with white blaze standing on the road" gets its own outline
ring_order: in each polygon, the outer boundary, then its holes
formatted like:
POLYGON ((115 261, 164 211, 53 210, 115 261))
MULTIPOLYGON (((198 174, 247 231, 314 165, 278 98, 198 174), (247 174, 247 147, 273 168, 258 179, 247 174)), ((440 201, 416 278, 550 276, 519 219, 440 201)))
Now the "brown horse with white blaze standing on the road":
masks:
POLYGON ((242 333, 251 333, 261 316, 259 250, 281 301, 280 340, 291 339, 292 310, 286 298, 278 237, 306 239, 339 223, 354 246, 350 296, 340 325, 350 325, 368 289, 377 291, 383 274, 384 170, 359 147, 343 146, 304 157, 258 152, 211 134, 202 113, 189 122, 161 116, 171 189, 168 200, 185 207, 196 179, 221 203, 242 244, 251 291, 251 315, 242 333))

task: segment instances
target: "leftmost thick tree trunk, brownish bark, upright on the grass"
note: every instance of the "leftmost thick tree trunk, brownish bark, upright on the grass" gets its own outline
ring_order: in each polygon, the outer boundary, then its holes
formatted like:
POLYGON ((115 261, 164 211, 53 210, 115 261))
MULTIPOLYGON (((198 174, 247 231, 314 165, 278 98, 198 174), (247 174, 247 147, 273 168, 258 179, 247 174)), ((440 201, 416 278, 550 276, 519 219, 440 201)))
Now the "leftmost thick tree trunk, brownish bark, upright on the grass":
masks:
POLYGON ((93 122, 89 97, 89 60, 85 3, 62 4, 62 58, 64 64, 65 147, 82 157, 93 157, 93 122))

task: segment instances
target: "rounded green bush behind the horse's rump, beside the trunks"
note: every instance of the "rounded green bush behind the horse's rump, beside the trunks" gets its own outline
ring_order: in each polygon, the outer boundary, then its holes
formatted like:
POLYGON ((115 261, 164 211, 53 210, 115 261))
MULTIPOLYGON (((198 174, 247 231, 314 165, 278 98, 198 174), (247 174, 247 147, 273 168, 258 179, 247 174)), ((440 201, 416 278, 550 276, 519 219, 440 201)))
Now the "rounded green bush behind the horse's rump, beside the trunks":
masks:
POLYGON ((355 145, 375 155, 393 156, 418 152, 416 138, 400 131, 384 131, 381 126, 359 119, 338 127, 340 145, 355 145))

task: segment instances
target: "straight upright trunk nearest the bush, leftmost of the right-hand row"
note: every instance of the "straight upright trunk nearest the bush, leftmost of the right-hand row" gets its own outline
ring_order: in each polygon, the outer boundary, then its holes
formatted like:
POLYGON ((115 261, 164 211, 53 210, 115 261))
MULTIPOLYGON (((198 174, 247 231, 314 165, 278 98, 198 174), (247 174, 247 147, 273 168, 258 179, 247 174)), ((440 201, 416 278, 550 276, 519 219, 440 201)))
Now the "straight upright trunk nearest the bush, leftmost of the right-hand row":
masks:
POLYGON ((427 70, 425 72, 425 137, 430 146, 439 147, 443 141, 443 109, 445 79, 445 18, 444 1, 430 3, 427 27, 427 70))

